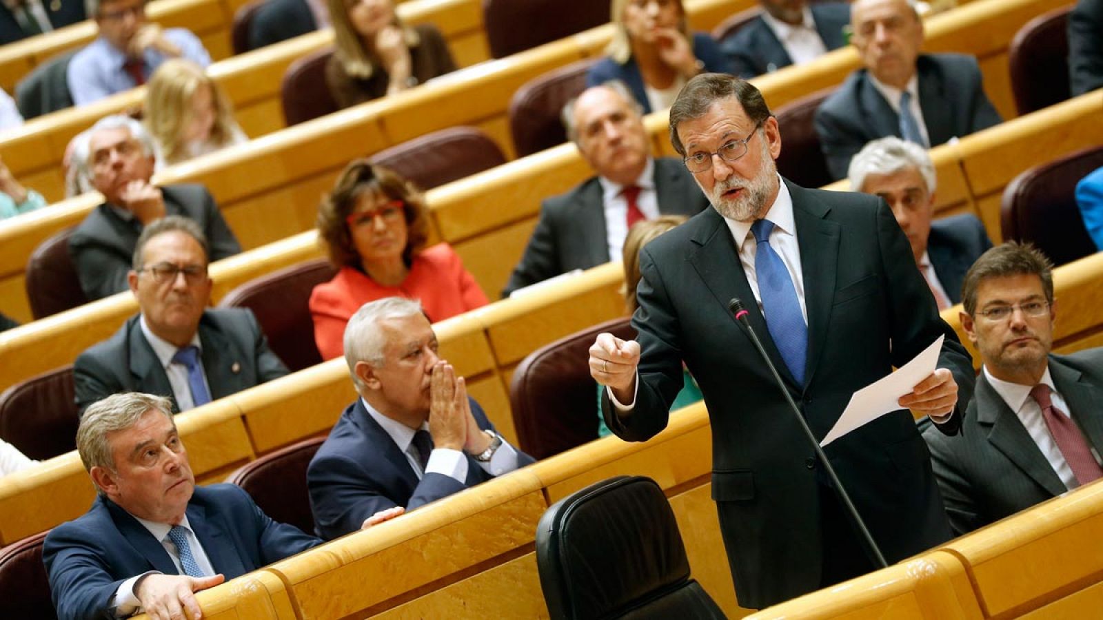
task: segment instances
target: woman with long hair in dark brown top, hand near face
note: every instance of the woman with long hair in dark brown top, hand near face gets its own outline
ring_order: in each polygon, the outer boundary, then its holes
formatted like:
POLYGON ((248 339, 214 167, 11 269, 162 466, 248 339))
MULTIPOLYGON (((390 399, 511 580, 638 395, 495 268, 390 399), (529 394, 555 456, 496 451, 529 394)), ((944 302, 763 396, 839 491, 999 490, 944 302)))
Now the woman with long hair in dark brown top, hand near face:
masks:
POLYGON ((456 71, 432 24, 403 25, 392 0, 328 0, 336 52, 325 65, 333 100, 346 108, 456 71))

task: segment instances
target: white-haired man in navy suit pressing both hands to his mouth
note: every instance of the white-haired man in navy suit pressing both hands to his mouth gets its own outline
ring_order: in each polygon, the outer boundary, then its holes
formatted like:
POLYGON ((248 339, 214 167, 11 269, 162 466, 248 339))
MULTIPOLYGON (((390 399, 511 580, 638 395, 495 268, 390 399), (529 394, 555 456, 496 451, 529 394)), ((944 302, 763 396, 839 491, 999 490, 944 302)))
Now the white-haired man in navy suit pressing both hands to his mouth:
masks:
POLYGON ((365 303, 349 320, 345 361, 360 398, 310 461, 318 533, 414 510, 533 462, 494 430, 463 377, 438 354, 417 301, 365 303))

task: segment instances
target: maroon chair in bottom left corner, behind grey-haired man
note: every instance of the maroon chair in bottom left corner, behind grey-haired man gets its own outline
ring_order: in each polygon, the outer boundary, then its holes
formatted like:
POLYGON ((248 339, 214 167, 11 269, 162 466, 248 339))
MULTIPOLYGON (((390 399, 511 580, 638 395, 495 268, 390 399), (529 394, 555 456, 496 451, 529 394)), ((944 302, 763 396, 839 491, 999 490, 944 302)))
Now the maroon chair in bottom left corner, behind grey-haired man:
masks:
POLYGON ((49 532, 0 548, 0 618, 56 620, 50 580, 42 565, 42 542, 49 532))

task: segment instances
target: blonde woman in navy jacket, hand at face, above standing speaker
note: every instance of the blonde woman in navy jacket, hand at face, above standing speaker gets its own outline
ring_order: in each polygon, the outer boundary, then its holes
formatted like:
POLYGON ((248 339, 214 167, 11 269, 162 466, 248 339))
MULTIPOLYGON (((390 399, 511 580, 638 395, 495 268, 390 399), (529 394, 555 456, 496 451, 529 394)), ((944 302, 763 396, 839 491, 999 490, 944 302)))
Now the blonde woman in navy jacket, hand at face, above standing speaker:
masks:
POLYGON ((613 40, 608 57, 586 76, 586 86, 619 79, 644 114, 671 107, 698 73, 729 73, 727 57, 705 33, 692 33, 682 0, 613 0, 613 40))

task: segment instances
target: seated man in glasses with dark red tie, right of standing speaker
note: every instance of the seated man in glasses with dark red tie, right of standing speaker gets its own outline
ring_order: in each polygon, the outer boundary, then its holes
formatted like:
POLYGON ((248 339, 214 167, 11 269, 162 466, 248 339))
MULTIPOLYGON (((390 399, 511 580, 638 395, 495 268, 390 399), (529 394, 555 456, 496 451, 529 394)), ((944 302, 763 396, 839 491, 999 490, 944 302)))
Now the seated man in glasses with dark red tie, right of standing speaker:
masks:
POLYGON ((1053 355, 1052 265, 1008 242, 965 275, 962 328, 984 363, 962 436, 927 429, 957 534, 1103 475, 1103 349, 1053 355))

